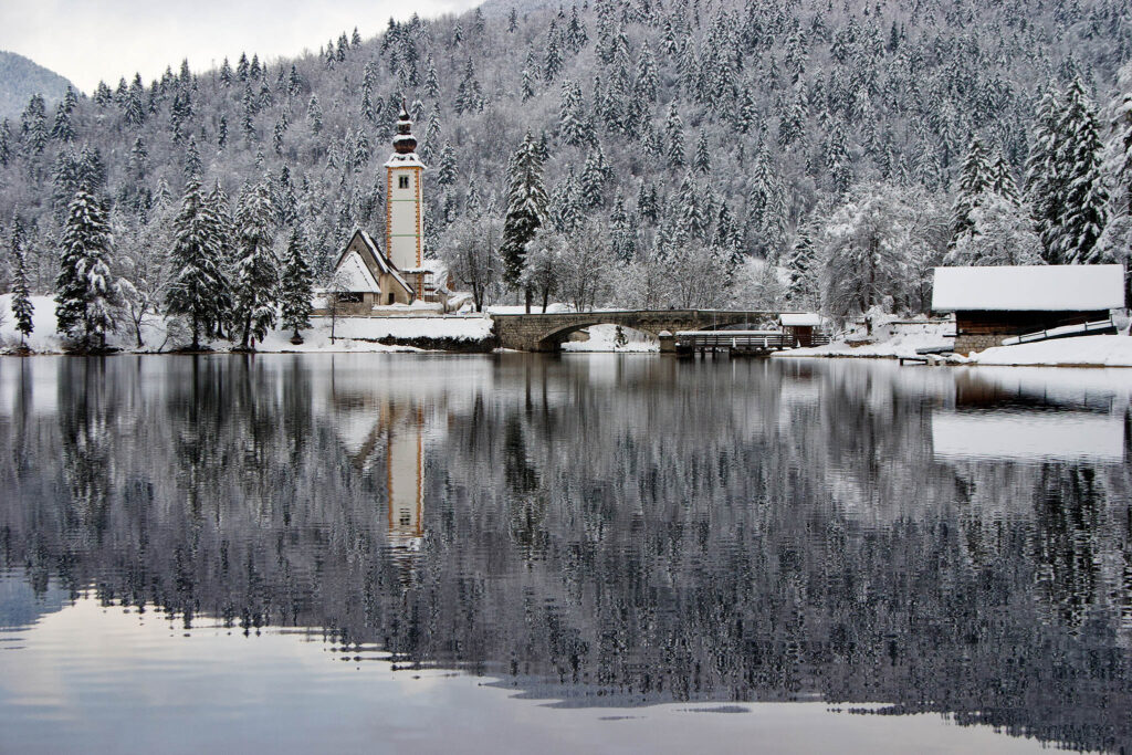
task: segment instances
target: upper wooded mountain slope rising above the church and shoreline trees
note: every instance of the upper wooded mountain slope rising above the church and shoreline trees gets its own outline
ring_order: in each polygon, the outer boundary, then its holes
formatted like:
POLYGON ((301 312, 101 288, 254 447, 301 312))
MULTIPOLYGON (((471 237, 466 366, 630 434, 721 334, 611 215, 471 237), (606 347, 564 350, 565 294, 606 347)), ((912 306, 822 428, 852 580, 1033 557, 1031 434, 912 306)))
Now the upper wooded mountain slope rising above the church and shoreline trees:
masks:
POLYGON ((51 112, 27 132, 15 119, 0 223, 24 217, 33 285, 48 290, 83 147, 97 151, 120 244, 168 216, 199 163, 229 195, 269 175, 325 273, 354 226, 380 234, 404 97, 431 169, 431 249, 470 208, 501 215, 531 130, 551 224, 593 218, 623 260, 692 243, 775 256, 854 185, 945 208, 971 135, 1020 179, 1041 93, 1080 76, 1106 100, 1130 51, 1117 0, 611 0, 414 18, 268 66, 249 52, 102 86, 76 104, 70 140, 36 140, 51 112))

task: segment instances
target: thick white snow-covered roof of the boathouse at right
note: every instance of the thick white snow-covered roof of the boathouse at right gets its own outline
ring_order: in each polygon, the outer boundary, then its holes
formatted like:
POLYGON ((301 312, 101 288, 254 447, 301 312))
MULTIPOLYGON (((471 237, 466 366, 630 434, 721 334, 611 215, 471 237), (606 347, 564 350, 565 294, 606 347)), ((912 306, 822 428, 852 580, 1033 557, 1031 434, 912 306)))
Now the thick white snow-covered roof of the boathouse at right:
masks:
POLYGON ((936 267, 932 309, 1098 311, 1124 307, 1122 265, 936 267))

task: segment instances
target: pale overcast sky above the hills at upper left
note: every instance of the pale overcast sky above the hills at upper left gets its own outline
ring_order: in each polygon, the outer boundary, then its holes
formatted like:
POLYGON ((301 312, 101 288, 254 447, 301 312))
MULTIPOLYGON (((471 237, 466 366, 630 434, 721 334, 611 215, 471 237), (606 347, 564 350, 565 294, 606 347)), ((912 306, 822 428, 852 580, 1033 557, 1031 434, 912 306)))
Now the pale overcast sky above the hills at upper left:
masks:
POLYGON ((354 26, 460 11, 478 0, 0 0, 0 50, 18 52, 89 94, 140 71, 146 84, 189 59, 194 71, 240 52, 260 60, 317 51, 354 26))

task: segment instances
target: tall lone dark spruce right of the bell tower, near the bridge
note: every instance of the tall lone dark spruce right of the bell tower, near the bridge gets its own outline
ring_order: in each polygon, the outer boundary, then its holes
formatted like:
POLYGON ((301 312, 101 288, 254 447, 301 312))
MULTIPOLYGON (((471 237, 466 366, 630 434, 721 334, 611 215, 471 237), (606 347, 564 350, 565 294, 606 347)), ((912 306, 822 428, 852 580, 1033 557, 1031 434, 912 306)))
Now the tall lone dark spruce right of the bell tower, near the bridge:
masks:
MULTIPOLYGON (((528 131, 523 143, 512 156, 508 170, 507 215, 504 218, 503 246, 504 283, 521 288, 526 244, 534 238, 547 216, 547 190, 542 185, 542 158, 538 140, 528 131)), ((531 311, 533 292, 523 288, 526 311, 531 311)))

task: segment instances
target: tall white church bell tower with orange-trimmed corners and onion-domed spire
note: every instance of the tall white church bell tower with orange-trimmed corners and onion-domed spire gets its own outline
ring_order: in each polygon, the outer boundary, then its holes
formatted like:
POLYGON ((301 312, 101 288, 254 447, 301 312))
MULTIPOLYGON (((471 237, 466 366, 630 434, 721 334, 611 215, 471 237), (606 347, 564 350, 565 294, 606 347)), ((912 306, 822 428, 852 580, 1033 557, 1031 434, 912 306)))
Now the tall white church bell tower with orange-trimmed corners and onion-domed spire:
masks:
POLYGON ((385 163, 385 254, 415 284, 417 295, 423 291, 424 272, 424 204, 421 200, 421 178, 424 163, 417 156, 417 139, 412 135, 404 101, 393 137, 393 154, 385 163))

